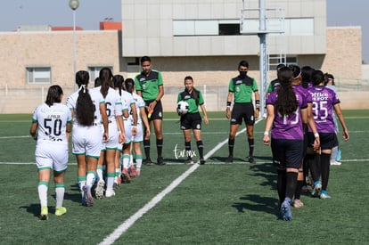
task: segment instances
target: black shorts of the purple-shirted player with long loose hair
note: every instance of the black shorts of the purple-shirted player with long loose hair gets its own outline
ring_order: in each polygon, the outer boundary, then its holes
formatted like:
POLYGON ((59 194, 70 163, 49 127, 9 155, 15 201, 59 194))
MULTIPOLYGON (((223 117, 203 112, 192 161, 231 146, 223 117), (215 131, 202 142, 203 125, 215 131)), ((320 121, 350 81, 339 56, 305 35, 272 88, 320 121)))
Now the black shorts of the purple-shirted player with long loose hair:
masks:
POLYGON ((271 141, 273 163, 281 168, 299 168, 302 164, 303 140, 271 141))

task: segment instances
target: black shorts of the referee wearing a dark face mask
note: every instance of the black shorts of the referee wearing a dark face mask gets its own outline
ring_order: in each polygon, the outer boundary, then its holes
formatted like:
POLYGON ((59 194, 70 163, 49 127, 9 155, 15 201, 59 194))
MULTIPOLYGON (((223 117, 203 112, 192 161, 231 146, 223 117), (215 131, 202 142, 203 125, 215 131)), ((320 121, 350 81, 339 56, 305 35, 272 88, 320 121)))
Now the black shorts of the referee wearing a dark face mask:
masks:
POLYGON ((231 115, 231 125, 242 125, 242 119, 246 125, 254 125, 254 105, 252 102, 234 103, 234 109, 231 115))

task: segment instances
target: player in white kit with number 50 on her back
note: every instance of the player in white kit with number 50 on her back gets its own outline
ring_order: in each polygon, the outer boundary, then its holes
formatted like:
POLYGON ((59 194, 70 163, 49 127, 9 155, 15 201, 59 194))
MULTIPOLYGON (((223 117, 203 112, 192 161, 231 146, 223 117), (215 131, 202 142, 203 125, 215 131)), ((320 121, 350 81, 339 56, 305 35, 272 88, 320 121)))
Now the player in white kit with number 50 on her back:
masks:
POLYGON ((37 140, 35 157, 38 169, 38 198, 41 219, 48 219, 47 189, 53 169, 55 183, 55 216, 67 212, 64 200, 64 174, 68 164, 68 137, 71 129, 70 109, 61 104, 61 86, 50 86, 45 103, 39 105, 32 116, 30 135, 37 140))

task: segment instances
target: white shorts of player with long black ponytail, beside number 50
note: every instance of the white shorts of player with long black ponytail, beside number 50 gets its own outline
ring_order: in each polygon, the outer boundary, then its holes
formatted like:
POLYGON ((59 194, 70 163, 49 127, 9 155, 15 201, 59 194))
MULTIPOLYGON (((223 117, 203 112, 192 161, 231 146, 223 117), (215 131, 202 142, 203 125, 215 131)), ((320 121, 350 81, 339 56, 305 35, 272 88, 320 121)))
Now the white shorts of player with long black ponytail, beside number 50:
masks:
POLYGON ((100 158, 102 150, 102 130, 100 126, 73 127, 72 153, 100 158))

